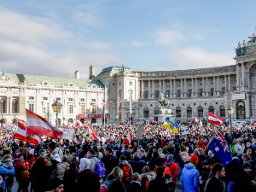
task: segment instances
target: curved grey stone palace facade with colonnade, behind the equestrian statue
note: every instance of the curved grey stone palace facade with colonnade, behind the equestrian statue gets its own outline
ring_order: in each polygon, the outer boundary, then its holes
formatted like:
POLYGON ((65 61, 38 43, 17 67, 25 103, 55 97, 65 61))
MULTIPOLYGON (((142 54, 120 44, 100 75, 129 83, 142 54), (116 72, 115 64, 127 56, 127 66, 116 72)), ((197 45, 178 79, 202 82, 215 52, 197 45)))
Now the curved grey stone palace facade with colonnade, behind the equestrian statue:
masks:
POLYGON ((108 87, 109 122, 142 124, 162 121, 160 93, 171 102, 173 119, 190 123, 193 117, 207 122, 215 113, 236 125, 252 124, 256 109, 256 37, 238 44, 236 65, 191 70, 140 72, 108 67, 96 76, 108 87), (230 116, 228 108, 233 108, 230 116))

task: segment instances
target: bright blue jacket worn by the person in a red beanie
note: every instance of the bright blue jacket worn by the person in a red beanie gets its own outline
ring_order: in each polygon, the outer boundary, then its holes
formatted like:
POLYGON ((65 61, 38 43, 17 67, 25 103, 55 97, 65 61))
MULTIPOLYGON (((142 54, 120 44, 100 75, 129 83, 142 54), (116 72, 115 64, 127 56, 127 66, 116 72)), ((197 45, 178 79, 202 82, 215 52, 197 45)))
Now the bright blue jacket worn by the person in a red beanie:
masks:
POLYGON ((185 164, 181 176, 184 192, 199 192, 199 176, 193 164, 185 164))

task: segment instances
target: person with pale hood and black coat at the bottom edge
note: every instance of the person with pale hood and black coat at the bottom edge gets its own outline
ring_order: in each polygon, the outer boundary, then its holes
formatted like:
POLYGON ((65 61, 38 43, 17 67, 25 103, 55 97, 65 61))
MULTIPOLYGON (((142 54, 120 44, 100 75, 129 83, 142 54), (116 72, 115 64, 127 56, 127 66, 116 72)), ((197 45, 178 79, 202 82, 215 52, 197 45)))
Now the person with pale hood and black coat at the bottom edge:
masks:
POLYGON ((73 191, 84 192, 84 189, 90 192, 100 191, 99 177, 90 169, 90 160, 87 158, 80 159, 79 176, 73 191))

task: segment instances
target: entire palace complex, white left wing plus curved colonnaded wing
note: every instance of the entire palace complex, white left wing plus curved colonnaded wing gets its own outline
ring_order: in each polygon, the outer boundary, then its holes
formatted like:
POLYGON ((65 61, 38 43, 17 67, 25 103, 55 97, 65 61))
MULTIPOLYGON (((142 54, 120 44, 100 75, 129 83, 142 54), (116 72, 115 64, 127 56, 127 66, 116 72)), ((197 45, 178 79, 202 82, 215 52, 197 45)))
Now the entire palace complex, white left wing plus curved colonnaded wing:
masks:
MULTIPOLYGON (((193 117, 207 121, 215 113, 232 125, 253 124, 256 113, 256 36, 236 48, 236 65, 177 71, 134 71, 128 67, 107 67, 89 79, 56 78, 1 73, 0 122, 26 119, 25 108, 58 125, 84 122, 143 124, 162 121, 160 93, 171 105, 172 118, 191 123, 193 117), (51 105, 61 102, 61 111, 51 105), (233 108, 229 114, 228 109, 233 108), (105 120, 105 121, 104 121, 105 120)), ((231 110, 230 110, 231 111, 231 110)))

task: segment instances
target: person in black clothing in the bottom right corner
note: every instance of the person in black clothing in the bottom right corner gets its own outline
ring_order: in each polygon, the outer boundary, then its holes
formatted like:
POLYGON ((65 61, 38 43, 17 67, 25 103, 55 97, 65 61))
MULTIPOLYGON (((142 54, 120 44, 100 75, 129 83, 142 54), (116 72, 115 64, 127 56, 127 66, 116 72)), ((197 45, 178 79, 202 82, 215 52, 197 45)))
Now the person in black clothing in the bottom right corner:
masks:
POLYGON ((252 166, 245 162, 242 164, 242 171, 238 173, 234 180, 232 192, 255 192, 256 180, 252 175, 252 166))

